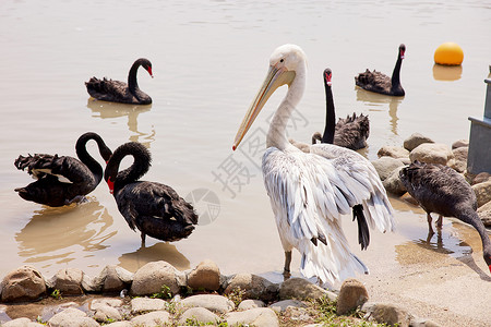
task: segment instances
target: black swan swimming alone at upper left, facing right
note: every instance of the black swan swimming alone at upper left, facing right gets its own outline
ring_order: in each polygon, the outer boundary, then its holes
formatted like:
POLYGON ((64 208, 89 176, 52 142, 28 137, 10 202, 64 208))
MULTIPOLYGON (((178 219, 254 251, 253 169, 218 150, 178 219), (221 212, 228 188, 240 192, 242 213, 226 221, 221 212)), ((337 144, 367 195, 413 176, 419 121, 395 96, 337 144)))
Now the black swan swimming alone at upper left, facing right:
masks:
POLYGON ((130 69, 128 74, 128 84, 120 81, 98 80, 92 77, 88 82, 85 82, 88 94, 98 100, 121 102, 121 104, 132 104, 132 105, 149 105, 152 104, 152 98, 140 89, 139 83, 136 82, 136 72, 140 66, 143 66, 148 74, 152 74, 152 62, 148 59, 140 58, 137 59, 130 69))

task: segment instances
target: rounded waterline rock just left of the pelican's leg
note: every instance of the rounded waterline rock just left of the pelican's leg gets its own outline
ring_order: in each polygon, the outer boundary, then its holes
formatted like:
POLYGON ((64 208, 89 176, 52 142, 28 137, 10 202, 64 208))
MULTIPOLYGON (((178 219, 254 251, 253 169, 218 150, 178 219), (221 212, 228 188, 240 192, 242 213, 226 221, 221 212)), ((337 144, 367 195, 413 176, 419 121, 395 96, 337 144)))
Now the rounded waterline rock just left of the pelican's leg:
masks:
POLYGON ((278 286, 267 279, 253 275, 241 272, 235 275, 225 289, 225 294, 229 294, 238 289, 244 291, 244 296, 250 299, 260 299, 272 301, 278 296, 278 286))

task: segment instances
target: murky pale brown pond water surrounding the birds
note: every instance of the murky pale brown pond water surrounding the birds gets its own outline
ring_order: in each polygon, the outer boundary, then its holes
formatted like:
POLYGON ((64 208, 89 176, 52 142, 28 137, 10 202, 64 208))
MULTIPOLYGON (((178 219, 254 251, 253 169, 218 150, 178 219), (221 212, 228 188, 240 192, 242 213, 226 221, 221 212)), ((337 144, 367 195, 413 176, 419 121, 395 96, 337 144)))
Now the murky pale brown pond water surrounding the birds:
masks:
MULTIPOLYGON (((483 112, 490 19, 488 1, 457 0, 1 1, 0 276, 22 264, 46 276, 68 266, 94 275, 108 264, 134 271, 166 259, 185 269, 204 258, 225 274, 274 275, 283 250, 256 149, 231 152, 273 49, 295 43, 309 57, 308 88, 290 136, 307 142, 323 130, 321 73, 330 66, 337 114, 370 116, 363 154, 374 159, 382 145, 402 144, 414 132, 448 145, 468 138, 467 118, 483 112), (464 49, 462 69, 433 65, 434 49, 448 40, 464 49), (407 95, 388 98, 356 89, 354 76, 367 68, 392 72, 400 43, 407 46, 402 70, 407 95), (84 81, 93 75, 124 81, 140 57, 153 62, 155 78, 139 74, 153 105, 89 99, 84 81), (74 156, 74 143, 86 131, 99 133, 111 148, 128 141, 148 146, 153 167, 145 179, 193 198, 203 225, 188 240, 147 239, 142 249, 140 234, 129 229, 104 183, 87 203, 63 208, 28 203, 13 192, 31 182, 12 165, 20 154, 74 156)), ((249 135, 264 136, 284 92, 270 99, 249 135)), ((89 152, 95 153, 93 144, 89 152)), ((376 246, 369 249, 370 257, 394 255, 405 265, 408 246, 456 256, 469 253, 468 244, 480 250, 477 233, 450 220, 440 239, 427 242, 422 210, 393 203, 397 233, 375 234, 373 242, 397 245, 380 254, 373 253, 376 246)), ((346 228, 356 247, 355 227, 347 221, 346 228)))

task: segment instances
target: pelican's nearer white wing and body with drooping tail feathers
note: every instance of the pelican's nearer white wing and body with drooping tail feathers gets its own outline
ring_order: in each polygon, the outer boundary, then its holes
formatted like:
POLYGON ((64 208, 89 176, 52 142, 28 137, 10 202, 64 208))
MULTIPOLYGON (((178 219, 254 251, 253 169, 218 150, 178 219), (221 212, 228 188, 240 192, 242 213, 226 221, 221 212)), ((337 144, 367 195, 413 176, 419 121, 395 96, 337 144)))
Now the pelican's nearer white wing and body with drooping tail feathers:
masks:
POLYGON ((300 251, 304 276, 334 282, 368 272, 340 228, 340 216, 356 204, 346 175, 318 155, 275 147, 263 156, 263 174, 282 242, 300 251))

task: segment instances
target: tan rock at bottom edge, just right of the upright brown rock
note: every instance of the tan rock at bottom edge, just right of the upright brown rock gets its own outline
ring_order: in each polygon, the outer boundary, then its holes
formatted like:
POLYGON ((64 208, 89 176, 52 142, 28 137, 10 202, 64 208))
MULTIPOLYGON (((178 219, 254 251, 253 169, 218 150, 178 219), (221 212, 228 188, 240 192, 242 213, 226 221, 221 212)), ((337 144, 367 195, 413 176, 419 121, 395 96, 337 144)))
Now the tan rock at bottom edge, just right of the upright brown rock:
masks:
POLYGON ((396 325, 408 327, 412 316, 404 308, 393 304, 367 303, 362 310, 367 312, 364 316, 369 320, 375 320, 379 324, 396 325))

